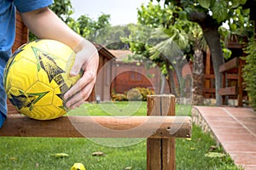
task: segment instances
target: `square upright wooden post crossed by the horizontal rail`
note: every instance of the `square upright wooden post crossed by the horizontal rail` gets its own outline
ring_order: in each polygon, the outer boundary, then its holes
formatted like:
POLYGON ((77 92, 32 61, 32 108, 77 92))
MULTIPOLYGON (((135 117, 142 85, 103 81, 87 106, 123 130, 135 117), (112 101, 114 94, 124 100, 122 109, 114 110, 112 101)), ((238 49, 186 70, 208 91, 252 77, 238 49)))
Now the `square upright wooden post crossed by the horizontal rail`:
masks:
MULTIPOLYGON (((148 116, 175 116, 175 96, 150 95, 147 107, 148 116)), ((147 139, 147 169, 175 169, 175 138, 147 139)))

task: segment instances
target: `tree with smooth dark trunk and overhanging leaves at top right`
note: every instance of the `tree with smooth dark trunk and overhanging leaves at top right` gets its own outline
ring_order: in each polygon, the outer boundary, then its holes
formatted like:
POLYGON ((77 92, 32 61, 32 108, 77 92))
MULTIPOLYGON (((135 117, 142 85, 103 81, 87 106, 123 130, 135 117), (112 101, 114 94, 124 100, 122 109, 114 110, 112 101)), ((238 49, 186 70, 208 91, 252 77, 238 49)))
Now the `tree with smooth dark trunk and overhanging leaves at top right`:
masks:
MULTIPOLYGON (((161 0, 157 0, 160 2, 161 0)), ((236 8, 246 3, 246 0, 164 0, 166 8, 176 6, 186 13, 188 20, 201 26, 203 35, 207 41, 212 54, 213 70, 215 74, 215 88, 217 105, 221 105, 222 98, 218 89, 222 84, 222 75, 218 68, 224 64, 224 55, 220 43, 218 28, 235 14, 236 8)))

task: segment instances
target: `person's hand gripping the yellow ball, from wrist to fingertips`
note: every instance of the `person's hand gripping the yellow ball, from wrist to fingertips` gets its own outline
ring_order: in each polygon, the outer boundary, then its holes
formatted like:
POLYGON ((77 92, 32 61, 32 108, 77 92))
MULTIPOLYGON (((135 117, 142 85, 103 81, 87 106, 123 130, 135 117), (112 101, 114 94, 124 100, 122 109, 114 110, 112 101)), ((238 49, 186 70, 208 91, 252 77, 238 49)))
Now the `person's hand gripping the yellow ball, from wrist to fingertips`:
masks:
POLYGON ((79 71, 84 71, 83 77, 76 82, 64 95, 67 99, 66 106, 73 109, 88 99, 96 82, 96 72, 99 65, 99 54, 96 47, 87 40, 80 42, 70 76, 77 76, 79 71))

